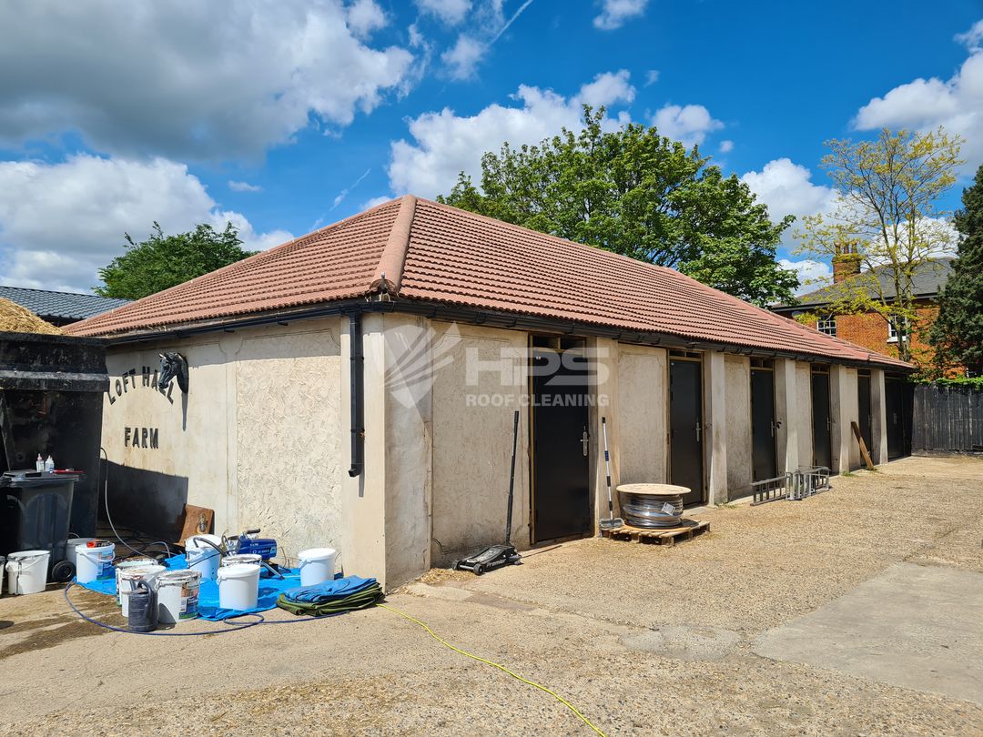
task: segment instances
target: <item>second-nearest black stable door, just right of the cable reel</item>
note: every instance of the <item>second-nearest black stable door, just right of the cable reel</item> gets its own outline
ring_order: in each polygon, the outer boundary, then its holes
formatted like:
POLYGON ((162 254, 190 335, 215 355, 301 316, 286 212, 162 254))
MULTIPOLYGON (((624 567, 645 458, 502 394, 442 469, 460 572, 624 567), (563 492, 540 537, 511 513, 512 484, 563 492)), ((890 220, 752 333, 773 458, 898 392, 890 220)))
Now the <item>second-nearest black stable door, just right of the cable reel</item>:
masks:
POLYGON ((690 489, 683 504, 702 504, 703 390, 697 361, 669 360, 669 478, 690 489))

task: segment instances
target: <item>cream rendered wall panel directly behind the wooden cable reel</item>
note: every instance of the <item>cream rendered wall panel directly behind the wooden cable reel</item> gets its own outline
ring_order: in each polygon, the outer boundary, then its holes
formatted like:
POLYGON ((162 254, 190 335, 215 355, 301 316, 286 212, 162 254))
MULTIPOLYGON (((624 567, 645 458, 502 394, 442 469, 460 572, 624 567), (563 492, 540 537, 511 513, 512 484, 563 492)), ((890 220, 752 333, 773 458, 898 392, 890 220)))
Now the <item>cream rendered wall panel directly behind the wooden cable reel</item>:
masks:
MULTIPOLYGON (((620 345, 616 351, 612 367, 617 372, 617 412, 607 413, 607 422, 617 425, 618 476, 611 481, 614 484, 665 483, 668 469, 665 350, 620 345)), ((608 427, 608 444, 613 450, 610 435, 608 427)), ((601 489, 601 495, 607 504, 607 488, 601 489)))

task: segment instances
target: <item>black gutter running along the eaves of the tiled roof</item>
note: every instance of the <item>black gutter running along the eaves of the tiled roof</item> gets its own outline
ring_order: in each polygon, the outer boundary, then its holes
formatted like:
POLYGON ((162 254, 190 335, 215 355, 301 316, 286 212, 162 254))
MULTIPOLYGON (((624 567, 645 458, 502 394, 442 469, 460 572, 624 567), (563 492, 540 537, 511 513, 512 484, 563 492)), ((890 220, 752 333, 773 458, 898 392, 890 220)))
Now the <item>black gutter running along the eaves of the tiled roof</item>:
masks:
POLYGON ((174 330, 136 333, 119 337, 110 335, 107 336, 105 340, 107 340, 110 345, 125 345, 128 343, 167 340, 168 338, 187 338, 192 335, 201 335, 203 333, 219 331, 229 332, 236 329, 260 327, 277 323, 283 324, 285 322, 293 322, 302 319, 314 319, 317 317, 350 314, 351 312, 401 312, 405 314, 430 317, 432 319, 482 325, 484 327, 500 327, 506 330, 517 329, 562 333, 565 335, 573 335, 578 337, 602 337, 610 338, 611 340, 616 340, 621 343, 678 349, 683 351, 722 351, 723 353, 754 356, 758 358, 789 359, 808 363, 834 363, 841 366, 856 367, 860 369, 882 367, 885 370, 902 372, 911 372, 915 370, 905 369, 904 367, 896 367, 890 364, 881 364, 875 361, 856 361, 850 359, 839 359, 833 356, 825 356, 821 354, 780 351, 774 348, 754 346, 740 346, 733 343, 720 343, 706 339, 686 338, 680 335, 673 335, 672 333, 606 327, 604 325, 597 325, 589 322, 574 322, 572 320, 537 317, 535 315, 518 314, 514 312, 493 312, 457 308, 452 305, 445 305, 442 303, 409 299, 397 299, 391 302, 369 302, 362 299, 358 301, 335 303, 329 306, 321 305, 316 308, 301 309, 294 312, 273 312, 260 316, 230 319, 204 325, 177 328, 174 330))

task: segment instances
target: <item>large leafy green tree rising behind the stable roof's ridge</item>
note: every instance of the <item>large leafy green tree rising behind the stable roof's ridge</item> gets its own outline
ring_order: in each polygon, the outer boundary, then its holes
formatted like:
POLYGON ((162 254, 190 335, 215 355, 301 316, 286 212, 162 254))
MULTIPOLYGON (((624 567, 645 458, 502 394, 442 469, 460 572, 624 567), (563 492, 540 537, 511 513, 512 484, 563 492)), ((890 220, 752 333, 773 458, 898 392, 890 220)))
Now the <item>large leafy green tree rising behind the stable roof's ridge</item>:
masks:
POLYGON ((539 145, 482 157, 481 190, 463 172, 442 202, 506 222, 678 268, 764 305, 789 301, 794 272, 776 262, 788 216, 768 208, 736 176, 708 165, 696 146, 628 124, 604 131, 605 109, 584 106, 584 128, 539 145))

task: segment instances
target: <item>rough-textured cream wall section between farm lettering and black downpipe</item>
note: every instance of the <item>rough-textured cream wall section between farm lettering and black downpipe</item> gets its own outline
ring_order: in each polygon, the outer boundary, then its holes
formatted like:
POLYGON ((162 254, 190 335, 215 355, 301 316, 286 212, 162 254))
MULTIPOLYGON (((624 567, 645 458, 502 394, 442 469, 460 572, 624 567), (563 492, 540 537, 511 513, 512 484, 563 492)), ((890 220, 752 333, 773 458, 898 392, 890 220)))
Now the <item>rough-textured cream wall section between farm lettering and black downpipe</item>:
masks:
MULTIPOLYGON (((341 347, 338 320, 238 332, 234 369, 239 527, 261 528, 296 559, 343 550, 341 347)), ((345 423, 347 425, 347 423, 345 423)), ((347 448, 345 448, 347 450, 347 448)))

